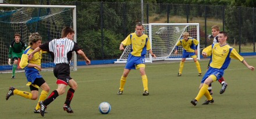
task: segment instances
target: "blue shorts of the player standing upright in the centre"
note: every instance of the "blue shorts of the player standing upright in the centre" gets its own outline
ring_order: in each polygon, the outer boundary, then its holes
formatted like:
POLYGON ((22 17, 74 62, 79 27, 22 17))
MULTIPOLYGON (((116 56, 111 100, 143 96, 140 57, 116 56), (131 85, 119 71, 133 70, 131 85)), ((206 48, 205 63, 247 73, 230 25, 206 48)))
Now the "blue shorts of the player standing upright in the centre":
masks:
POLYGON ((145 64, 145 57, 136 57, 129 54, 126 62, 126 69, 136 69, 136 65, 145 64))

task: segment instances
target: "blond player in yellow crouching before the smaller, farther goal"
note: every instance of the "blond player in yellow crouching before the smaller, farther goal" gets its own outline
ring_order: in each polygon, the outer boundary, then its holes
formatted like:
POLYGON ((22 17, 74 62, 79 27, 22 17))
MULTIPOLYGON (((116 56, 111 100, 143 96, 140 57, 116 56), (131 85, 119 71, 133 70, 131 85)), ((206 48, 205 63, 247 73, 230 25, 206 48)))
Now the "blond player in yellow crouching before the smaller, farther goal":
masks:
POLYGON ((193 58, 195 62, 195 66, 197 66, 198 70, 198 76, 202 76, 200 64, 197 61, 197 55, 195 55, 195 46, 199 43, 197 39, 194 39, 192 37, 189 37, 189 32, 184 32, 183 38, 181 38, 177 44, 176 44, 176 50, 175 54, 178 53, 179 46, 183 47, 183 52, 182 52, 182 61, 180 61, 180 68, 179 68, 179 73, 177 76, 182 76, 182 70, 184 67, 184 62, 186 61, 186 58, 189 56, 193 58))

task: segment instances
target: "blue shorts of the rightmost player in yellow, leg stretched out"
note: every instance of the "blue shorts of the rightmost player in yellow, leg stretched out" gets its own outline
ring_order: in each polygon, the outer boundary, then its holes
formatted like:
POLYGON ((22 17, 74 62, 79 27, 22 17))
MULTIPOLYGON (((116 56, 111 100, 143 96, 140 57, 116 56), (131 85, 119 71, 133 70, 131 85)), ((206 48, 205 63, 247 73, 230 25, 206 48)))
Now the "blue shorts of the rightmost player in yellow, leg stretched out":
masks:
POLYGON ((224 70, 223 69, 216 69, 212 68, 211 66, 205 73, 204 77, 202 77, 201 83, 204 83, 204 81, 211 75, 215 75, 217 80, 221 79, 221 77, 224 75, 224 70))

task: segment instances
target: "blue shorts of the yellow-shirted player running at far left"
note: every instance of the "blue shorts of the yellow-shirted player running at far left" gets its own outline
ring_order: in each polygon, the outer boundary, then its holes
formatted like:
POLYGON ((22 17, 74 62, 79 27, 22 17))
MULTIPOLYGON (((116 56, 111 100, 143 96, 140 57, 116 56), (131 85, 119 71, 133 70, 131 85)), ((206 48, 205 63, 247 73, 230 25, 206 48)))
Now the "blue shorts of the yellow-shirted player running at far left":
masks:
POLYGON ((34 83, 35 79, 41 78, 42 76, 40 75, 39 71, 35 68, 26 68, 25 69, 25 74, 27 77, 27 81, 34 83))

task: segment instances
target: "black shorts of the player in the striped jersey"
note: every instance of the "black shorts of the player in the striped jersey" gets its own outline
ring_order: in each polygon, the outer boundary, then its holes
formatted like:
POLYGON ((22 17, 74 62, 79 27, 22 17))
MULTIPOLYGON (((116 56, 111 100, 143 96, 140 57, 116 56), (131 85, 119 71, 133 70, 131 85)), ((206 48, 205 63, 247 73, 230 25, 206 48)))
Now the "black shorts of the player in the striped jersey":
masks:
POLYGON ((54 67, 54 76, 58 80, 65 81, 67 84, 69 83, 69 80, 72 79, 70 77, 70 67, 68 64, 56 64, 54 67))

